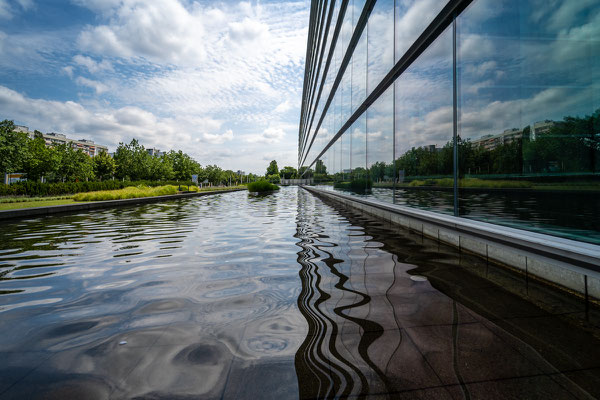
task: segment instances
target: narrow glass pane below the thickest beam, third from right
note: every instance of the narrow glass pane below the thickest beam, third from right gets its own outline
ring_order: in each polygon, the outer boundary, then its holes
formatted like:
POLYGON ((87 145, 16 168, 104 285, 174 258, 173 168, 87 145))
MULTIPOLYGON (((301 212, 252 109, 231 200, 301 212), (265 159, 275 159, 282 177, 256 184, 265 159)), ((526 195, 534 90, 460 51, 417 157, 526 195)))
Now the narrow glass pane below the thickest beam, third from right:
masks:
POLYGON ((367 110, 367 168, 372 194, 393 202, 394 88, 389 87, 367 110))

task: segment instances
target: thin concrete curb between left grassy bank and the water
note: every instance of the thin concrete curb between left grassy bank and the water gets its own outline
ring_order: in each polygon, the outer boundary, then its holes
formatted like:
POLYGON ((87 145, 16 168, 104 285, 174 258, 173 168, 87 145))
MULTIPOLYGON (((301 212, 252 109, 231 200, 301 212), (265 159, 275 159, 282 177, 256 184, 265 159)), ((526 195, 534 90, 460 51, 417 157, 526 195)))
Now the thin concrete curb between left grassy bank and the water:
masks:
POLYGON ((17 210, 0 211, 0 220, 7 220, 7 219, 14 219, 14 218, 39 217, 39 216, 59 214, 59 213, 131 206, 131 205, 136 205, 136 204, 158 203, 158 202, 165 201, 165 200, 187 199, 190 197, 200 197, 200 196, 209 196, 209 195, 213 195, 213 194, 239 192, 242 190, 246 190, 246 189, 215 190, 215 191, 210 191, 210 192, 172 194, 172 195, 168 195, 168 196, 139 197, 136 199, 90 201, 90 202, 86 202, 86 203, 64 204, 64 205, 58 205, 58 206, 20 208, 17 210))

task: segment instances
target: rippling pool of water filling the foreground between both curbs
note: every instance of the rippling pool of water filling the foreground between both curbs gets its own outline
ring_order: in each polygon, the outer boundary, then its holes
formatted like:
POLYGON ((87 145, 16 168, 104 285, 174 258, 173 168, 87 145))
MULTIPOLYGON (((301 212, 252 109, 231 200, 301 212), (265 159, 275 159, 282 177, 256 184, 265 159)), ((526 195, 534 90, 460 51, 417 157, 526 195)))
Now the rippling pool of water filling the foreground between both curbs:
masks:
POLYGON ((600 396, 593 307, 295 187, 5 222, 0 279, 0 399, 600 396))

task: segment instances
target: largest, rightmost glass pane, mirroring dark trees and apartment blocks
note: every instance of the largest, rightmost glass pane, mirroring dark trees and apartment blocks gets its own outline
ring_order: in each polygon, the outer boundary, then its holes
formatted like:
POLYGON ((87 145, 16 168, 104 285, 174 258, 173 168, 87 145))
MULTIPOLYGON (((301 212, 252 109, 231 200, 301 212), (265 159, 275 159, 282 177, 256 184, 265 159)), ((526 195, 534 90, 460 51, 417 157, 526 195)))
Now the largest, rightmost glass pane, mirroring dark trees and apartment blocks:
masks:
POLYGON ((457 24, 460 215, 600 243, 600 3, 480 0, 457 24))

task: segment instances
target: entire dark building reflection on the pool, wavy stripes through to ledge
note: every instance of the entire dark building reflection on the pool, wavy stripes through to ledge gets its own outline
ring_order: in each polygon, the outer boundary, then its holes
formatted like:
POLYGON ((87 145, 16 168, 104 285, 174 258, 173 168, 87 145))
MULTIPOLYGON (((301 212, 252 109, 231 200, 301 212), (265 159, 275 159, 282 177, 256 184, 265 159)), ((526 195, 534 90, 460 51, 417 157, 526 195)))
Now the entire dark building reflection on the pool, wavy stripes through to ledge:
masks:
MULTIPOLYGON (((301 399, 423 398, 412 390, 431 387, 441 394, 426 398, 504 398, 503 386, 478 386, 529 379, 538 365, 557 373, 597 364, 598 338, 555 307, 568 295, 309 196, 299 193, 296 234, 297 304, 309 326, 295 355, 301 399)), ((600 374, 588 379, 597 390, 600 374)), ((515 398, 539 390, 527 384, 515 398)))

